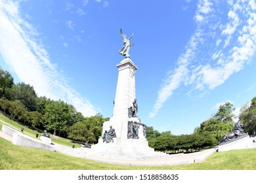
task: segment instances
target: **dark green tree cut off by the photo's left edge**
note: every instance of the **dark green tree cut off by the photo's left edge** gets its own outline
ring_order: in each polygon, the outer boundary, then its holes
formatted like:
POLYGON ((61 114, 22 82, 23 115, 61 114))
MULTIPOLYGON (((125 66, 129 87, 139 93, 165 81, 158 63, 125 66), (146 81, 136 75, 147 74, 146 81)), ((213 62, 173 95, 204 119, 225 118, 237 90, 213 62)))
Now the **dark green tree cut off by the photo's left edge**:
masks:
POLYGON ((0 67, 0 97, 7 97, 7 90, 12 87, 13 77, 8 71, 3 71, 0 67))

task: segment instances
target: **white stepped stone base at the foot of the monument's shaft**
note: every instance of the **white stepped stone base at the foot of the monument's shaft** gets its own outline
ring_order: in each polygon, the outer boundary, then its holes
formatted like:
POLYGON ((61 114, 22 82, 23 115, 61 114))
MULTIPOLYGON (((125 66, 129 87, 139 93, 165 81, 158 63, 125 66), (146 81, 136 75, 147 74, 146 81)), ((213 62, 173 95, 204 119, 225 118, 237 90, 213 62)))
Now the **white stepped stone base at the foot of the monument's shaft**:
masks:
MULTIPOLYGON (((120 157, 128 159, 146 159, 146 158, 159 158, 167 156, 167 154, 161 152, 154 152, 153 148, 148 146, 148 141, 144 135, 144 124, 140 123, 139 118, 126 118, 125 120, 117 120, 111 118, 110 121, 104 122, 102 131, 108 131, 110 125, 116 131, 116 137, 113 138, 114 142, 103 142, 102 139, 98 139, 98 144, 92 145, 91 150, 87 153, 91 153, 94 156, 104 157, 120 157), (129 122, 136 122, 138 125, 138 133, 136 139, 129 139, 129 122)), ((103 134, 102 134, 103 135, 103 134)))

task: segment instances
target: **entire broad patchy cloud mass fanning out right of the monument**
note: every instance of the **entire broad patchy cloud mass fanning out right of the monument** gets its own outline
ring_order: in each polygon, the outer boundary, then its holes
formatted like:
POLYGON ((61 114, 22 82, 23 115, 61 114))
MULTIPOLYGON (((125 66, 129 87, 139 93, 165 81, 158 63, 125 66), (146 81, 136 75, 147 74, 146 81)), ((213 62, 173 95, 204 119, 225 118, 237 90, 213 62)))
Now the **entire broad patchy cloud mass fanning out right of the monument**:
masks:
POLYGON ((188 95, 196 92, 202 97, 205 91, 213 90, 243 69, 255 54, 255 1, 228 1, 230 10, 226 14, 228 21, 224 23, 218 16, 218 5, 221 6, 209 0, 198 1, 195 33, 177 60, 177 67, 163 80, 150 118, 158 114, 182 84, 191 87, 188 95))

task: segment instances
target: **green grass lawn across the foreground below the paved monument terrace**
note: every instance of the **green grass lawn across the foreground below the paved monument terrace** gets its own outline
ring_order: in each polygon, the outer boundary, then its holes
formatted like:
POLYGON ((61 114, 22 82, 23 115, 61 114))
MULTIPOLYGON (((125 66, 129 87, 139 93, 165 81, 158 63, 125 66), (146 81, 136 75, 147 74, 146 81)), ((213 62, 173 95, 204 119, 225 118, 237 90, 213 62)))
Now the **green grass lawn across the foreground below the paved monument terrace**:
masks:
POLYGON ((1 170, 256 170, 256 148, 215 152, 202 163, 161 167, 112 165, 25 148, 0 138, 1 170))

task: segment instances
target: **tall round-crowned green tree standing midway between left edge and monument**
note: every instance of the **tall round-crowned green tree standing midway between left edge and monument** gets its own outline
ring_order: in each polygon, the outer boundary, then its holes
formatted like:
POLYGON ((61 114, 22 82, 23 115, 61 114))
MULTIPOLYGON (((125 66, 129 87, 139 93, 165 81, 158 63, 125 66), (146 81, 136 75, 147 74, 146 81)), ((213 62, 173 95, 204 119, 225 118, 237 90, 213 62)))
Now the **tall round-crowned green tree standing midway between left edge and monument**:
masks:
POLYGON ((72 120, 71 108, 64 101, 51 101, 45 107, 45 127, 53 130, 53 134, 66 135, 68 125, 72 120))

